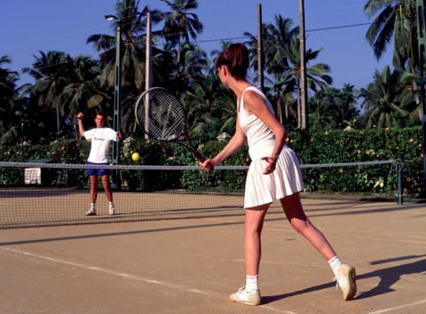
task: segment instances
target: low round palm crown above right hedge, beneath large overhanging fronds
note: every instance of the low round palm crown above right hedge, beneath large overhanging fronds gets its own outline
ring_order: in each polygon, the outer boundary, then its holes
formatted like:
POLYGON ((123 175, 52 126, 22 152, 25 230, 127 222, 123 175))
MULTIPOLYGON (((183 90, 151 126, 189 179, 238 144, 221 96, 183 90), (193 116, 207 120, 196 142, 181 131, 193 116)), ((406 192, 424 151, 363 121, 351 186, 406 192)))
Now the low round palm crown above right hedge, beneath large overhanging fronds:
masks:
POLYGON ((374 82, 369 83, 367 89, 360 90, 359 96, 364 98, 361 106, 366 109, 364 118, 367 128, 397 127, 409 114, 405 106, 414 102, 414 96, 401 83, 401 75, 400 71, 390 71, 390 67, 386 66, 382 73, 375 71, 374 82), (406 97, 407 93, 411 98, 406 97))

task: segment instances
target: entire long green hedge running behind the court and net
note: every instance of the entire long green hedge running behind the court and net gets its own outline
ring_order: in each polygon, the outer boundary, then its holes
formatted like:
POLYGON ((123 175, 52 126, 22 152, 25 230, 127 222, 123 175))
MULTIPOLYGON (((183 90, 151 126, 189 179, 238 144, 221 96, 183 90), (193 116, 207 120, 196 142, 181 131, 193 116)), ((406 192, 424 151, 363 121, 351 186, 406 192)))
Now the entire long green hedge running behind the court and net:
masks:
MULTIPOLYGON (((212 156, 225 142, 211 141, 199 145, 201 153, 212 156)), ((340 131, 332 130, 315 134, 293 132, 287 144, 292 147, 301 164, 324 164, 353 161, 395 160, 402 155, 403 177, 406 194, 422 192, 422 130, 411 129, 340 131)), ((50 158, 61 163, 84 163, 90 144, 85 140, 58 140, 49 146, 2 146, 1 161, 33 161, 50 158), (23 152, 23 155, 22 155, 23 152)), ((122 144, 122 164, 144 165, 195 165, 193 154, 181 145, 140 139, 122 144), (131 153, 138 152, 140 161, 131 160, 131 153)), ((248 148, 244 146, 223 165, 249 164, 248 148)), ((19 169, 0 169, 0 184, 20 184, 19 169)), ((397 186, 396 164, 374 166, 303 169, 306 191, 395 193, 397 186)), ((245 171, 220 170, 212 173, 193 170, 142 170, 122 171, 124 186, 131 191, 164 189, 241 191, 244 188, 245 171)), ((59 170, 53 174, 51 184, 86 185, 84 171, 59 170), (56 177, 55 177, 56 176, 56 177)))

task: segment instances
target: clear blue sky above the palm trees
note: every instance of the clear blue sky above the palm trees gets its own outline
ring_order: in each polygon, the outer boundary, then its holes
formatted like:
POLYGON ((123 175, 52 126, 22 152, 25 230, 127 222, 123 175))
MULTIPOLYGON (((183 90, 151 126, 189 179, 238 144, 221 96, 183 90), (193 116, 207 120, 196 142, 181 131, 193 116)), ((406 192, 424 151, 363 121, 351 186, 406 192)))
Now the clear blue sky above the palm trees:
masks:
MULTIPOLYGON (((262 4, 263 22, 282 15, 299 23, 298 0, 198 0, 194 11, 204 25, 197 39, 205 51, 220 48, 220 39, 256 35, 257 4, 262 4)), ((331 67, 334 86, 349 82, 356 88, 372 81, 376 69, 391 64, 391 49, 377 62, 365 39, 371 20, 363 12, 367 0, 305 0, 306 47, 323 50, 317 62, 331 67), (324 29, 331 28, 331 29, 324 29)), ((164 10, 160 0, 141 0, 142 5, 164 10)), ((0 56, 12 58, 8 68, 31 67, 38 51, 65 51, 72 57, 97 57, 86 39, 93 34, 114 34, 107 13, 115 13, 116 0, 20 0, 3 1, 0 11, 0 56)), ((243 41, 244 39, 241 39, 243 41)), ((23 81, 28 78, 23 76, 23 81)), ((31 82, 31 81, 29 81, 31 82)))

